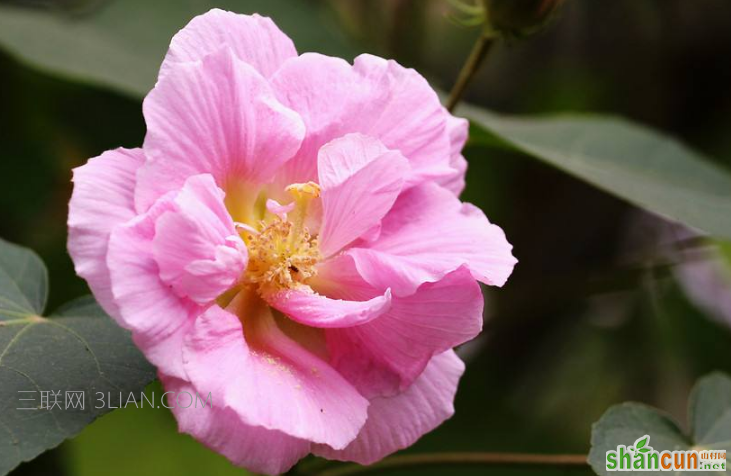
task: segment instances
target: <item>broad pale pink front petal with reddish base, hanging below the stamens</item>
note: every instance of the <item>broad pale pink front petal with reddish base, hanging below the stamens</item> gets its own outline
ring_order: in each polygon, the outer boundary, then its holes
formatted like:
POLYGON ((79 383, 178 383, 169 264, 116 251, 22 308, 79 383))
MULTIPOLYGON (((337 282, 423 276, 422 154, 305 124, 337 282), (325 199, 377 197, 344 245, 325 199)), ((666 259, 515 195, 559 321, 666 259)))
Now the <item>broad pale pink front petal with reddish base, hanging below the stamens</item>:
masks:
POLYGON ((195 388, 216 395, 247 425, 334 448, 352 441, 368 401, 279 330, 255 293, 240 293, 229 308, 241 318, 213 306, 188 336, 185 370, 195 388))

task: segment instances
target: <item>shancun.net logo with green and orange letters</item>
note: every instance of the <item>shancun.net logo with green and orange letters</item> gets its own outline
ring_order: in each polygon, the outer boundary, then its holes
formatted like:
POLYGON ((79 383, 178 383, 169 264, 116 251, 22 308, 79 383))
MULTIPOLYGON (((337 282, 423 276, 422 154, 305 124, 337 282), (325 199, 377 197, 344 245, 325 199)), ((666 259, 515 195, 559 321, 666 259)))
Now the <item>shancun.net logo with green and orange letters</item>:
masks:
POLYGON ((607 451, 607 471, 726 471, 726 450, 657 451, 650 435, 607 451))

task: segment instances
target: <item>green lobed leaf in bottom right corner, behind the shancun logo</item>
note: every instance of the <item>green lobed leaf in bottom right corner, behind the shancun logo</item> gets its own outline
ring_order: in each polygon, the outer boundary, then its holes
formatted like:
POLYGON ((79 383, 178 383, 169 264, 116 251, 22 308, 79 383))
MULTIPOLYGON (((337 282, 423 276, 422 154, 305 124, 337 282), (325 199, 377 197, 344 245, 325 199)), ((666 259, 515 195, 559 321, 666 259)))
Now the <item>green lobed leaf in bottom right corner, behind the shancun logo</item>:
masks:
MULTIPOLYGON (((616 405, 602 415, 591 432, 589 464, 597 474, 608 476, 606 455, 618 445, 630 446, 644 435, 656 451, 703 448, 731 452, 731 378, 714 373, 698 381, 688 403, 692 435, 685 435, 668 415, 639 403, 616 405)), ((651 476, 657 471, 633 471, 651 476)), ((685 475, 713 474, 684 472, 685 475)))

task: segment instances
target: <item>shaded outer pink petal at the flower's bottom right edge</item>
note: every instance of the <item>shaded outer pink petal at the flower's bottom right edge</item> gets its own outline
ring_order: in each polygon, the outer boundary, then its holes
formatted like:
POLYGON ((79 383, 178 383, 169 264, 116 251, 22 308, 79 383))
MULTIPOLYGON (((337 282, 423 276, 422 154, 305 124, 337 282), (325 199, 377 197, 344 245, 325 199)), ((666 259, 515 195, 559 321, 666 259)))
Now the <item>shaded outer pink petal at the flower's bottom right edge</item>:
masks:
POLYGON ((343 450, 315 445, 313 453, 328 459, 371 464, 413 445, 454 414, 454 395, 464 364, 454 351, 435 356, 404 393, 374 398, 358 438, 343 450))

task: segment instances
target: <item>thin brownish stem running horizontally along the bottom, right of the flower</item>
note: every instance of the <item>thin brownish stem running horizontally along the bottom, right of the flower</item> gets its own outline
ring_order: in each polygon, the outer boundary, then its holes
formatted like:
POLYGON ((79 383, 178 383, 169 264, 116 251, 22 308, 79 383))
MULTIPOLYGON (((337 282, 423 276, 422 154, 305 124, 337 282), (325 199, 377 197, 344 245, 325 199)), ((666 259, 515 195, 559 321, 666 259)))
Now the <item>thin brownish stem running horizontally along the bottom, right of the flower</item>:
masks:
POLYGON ((492 466, 523 468, 586 469, 585 455, 545 455, 523 453, 435 453, 400 455, 370 466, 349 464, 317 473, 317 476, 351 476, 397 469, 423 469, 425 466, 492 466))

